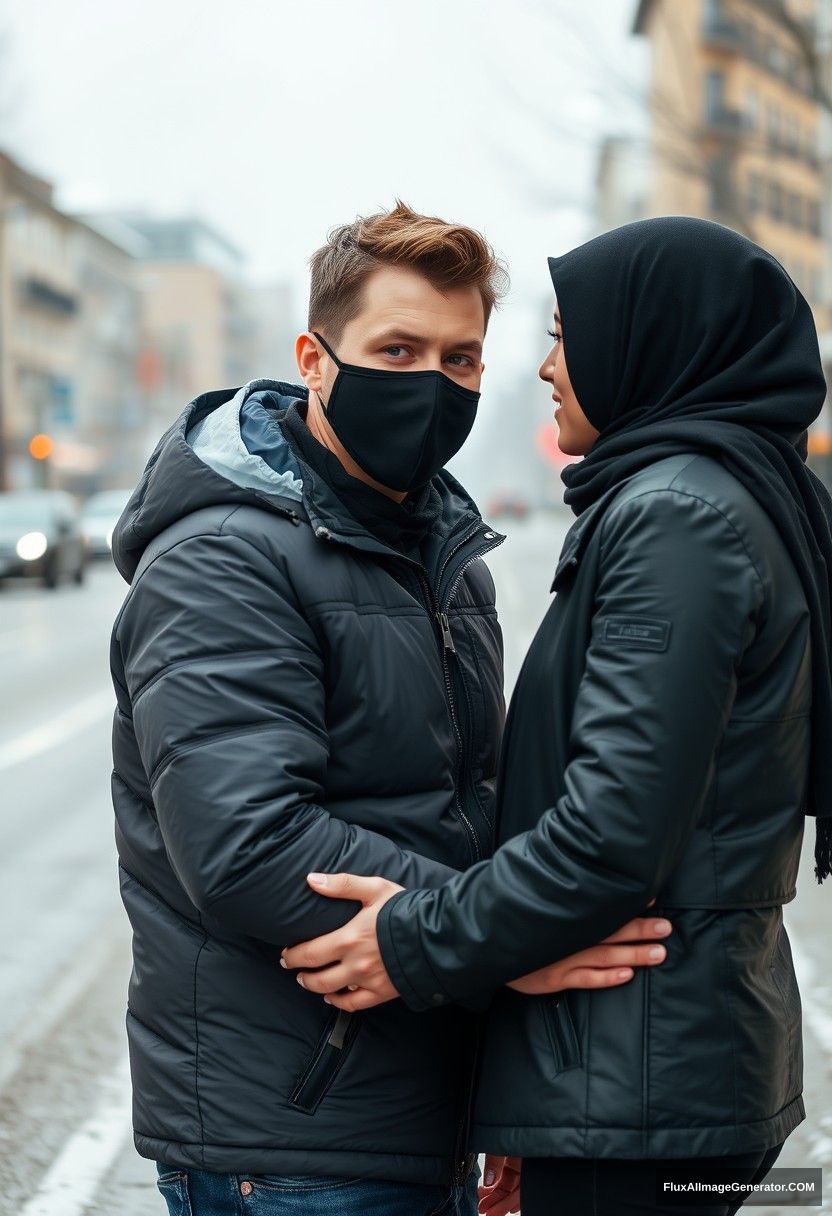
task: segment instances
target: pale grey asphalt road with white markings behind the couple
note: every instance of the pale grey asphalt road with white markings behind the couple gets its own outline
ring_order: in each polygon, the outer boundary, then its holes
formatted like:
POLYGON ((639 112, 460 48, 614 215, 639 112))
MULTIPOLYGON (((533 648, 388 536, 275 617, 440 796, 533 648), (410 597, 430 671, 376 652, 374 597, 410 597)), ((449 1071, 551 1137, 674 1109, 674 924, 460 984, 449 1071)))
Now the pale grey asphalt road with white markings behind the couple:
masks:
MULTIPOLYGON (((500 522, 489 557, 507 681, 549 602, 572 517, 500 522)), ((0 1214, 162 1216, 130 1137, 124 1009, 129 925, 109 801, 108 643, 125 585, 0 590, 0 1214)), ((804 1002, 808 1119, 778 1165, 825 1165, 832 1212, 830 891, 810 833, 786 921, 804 1002)), ((778 1209, 755 1209, 774 1216, 778 1209)), ((783 1209, 788 1211, 791 1209, 783 1209)), ((817 1211, 817 1209, 814 1209, 817 1211)))

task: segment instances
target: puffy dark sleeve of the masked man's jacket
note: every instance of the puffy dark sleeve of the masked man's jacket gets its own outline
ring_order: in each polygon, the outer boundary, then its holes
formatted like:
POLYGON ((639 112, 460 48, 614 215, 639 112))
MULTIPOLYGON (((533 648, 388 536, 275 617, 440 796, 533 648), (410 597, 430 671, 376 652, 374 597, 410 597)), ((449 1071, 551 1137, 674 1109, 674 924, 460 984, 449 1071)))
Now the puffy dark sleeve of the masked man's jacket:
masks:
POLYGON ((156 557, 118 644, 164 848, 201 912, 282 947, 360 910, 314 894, 310 871, 406 886, 456 873, 327 812, 324 659, 288 568, 246 537, 156 557))

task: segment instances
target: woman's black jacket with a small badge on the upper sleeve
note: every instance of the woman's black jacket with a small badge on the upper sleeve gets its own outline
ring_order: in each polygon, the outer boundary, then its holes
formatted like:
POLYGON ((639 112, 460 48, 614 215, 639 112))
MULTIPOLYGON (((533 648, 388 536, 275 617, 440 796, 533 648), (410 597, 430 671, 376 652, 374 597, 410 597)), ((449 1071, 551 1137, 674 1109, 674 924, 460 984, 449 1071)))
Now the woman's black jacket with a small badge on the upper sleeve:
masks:
MULTIPOLYGON (((772 1147, 804 1118, 794 897, 809 771, 809 612, 769 516, 685 454, 573 524, 506 724, 493 863, 382 910, 415 1009, 674 925, 622 987, 497 990, 473 1147, 679 1158, 772 1147)), ((431 1017, 431 1014, 426 1014, 431 1017)))

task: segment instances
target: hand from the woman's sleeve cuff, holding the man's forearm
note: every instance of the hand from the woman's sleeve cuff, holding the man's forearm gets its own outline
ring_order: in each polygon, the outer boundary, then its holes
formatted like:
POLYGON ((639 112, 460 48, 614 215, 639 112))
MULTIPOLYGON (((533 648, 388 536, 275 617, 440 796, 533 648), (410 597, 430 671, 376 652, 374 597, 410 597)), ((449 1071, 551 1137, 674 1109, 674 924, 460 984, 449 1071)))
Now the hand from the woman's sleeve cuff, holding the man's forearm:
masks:
POLYGON ((298 973, 298 984, 308 992, 320 992, 327 1004, 338 1009, 354 1013, 393 1001, 399 993, 390 983, 378 950, 376 921, 390 896, 404 888, 386 878, 360 878, 356 874, 307 874, 307 882, 319 895, 354 900, 362 908, 335 933, 283 950, 281 967, 304 968, 298 973), (342 992, 342 989, 350 991, 342 992))

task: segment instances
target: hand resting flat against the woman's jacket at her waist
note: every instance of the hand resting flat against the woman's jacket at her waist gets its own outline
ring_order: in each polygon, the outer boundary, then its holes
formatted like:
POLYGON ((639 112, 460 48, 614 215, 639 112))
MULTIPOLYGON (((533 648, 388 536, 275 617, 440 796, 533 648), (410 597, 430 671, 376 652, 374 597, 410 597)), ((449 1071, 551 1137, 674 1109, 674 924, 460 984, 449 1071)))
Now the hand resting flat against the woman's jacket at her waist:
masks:
POLYGON ((527 996, 540 996, 569 987, 615 987, 626 984, 633 979, 634 967, 656 967, 667 957, 664 946, 633 944, 667 938, 671 929, 669 921, 635 917, 622 929, 611 933, 600 945, 579 950, 577 955, 569 955, 558 963, 550 963, 529 975, 522 975, 518 980, 512 980, 508 987, 525 992, 527 996))

